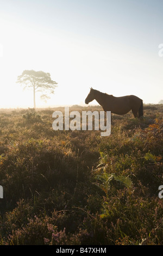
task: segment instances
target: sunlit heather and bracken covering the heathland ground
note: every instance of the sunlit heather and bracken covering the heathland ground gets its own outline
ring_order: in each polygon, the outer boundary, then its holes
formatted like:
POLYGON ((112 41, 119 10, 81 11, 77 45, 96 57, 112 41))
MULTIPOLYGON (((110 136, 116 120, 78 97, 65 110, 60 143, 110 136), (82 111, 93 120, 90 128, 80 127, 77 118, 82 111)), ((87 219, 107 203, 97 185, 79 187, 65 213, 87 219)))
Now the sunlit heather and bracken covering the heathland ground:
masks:
POLYGON ((54 131, 55 110, 0 111, 0 244, 163 245, 163 105, 109 137, 54 131))

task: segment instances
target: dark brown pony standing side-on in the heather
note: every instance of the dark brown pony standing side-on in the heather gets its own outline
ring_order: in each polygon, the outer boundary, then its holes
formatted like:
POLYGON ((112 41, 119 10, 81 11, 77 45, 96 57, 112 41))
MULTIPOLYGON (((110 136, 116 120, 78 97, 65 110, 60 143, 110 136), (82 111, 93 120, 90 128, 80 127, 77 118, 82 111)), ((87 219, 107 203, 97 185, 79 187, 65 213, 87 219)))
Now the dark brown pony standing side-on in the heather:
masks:
POLYGON ((111 111, 113 114, 124 115, 131 110, 135 118, 143 116, 143 101, 139 97, 134 95, 115 97, 92 88, 90 89, 90 93, 85 99, 86 104, 96 100, 105 112, 111 111))

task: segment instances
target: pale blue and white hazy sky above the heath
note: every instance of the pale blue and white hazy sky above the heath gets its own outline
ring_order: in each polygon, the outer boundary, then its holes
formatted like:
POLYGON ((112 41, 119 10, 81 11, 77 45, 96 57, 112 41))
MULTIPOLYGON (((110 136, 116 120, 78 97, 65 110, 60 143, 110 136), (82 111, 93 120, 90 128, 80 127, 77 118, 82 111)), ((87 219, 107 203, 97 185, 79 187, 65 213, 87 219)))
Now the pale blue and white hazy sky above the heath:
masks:
POLYGON ((162 0, 0 0, 0 108, 33 107, 16 83, 31 69, 58 82, 37 107, 84 104, 90 87, 163 100, 162 10, 162 0))

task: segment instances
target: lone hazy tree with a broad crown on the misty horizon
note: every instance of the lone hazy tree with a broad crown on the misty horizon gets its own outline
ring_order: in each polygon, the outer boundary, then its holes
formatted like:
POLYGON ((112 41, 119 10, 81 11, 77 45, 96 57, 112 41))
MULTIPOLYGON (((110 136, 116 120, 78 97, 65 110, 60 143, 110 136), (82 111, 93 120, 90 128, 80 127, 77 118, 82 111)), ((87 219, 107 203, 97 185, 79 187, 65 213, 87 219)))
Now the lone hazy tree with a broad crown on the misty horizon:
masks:
POLYGON ((54 93, 54 89, 57 87, 57 82, 51 80, 49 73, 34 70, 24 70, 22 75, 17 77, 17 83, 24 84, 24 88, 33 87, 34 108, 36 108, 36 92, 41 92, 41 99, 46 100, 50 98, 47 94, 54 93))

